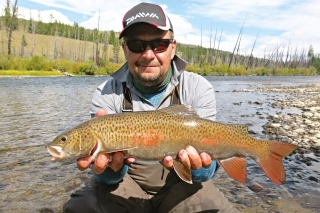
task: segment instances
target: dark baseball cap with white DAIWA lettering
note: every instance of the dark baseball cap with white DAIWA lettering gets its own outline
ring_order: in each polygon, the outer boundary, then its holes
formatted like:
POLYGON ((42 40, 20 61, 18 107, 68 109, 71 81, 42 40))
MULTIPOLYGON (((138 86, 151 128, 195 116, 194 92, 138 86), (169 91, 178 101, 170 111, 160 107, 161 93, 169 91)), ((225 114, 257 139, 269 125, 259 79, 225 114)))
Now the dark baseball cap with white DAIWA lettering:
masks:
POLYGON ((163 9, 157 4, 140 3, 131 8, 123 17, 123 30, 119 35, 119 39, 124 36, 128 27, 137 23, 147 23, 161 30, 171 30, 173 27, 169 17, 164 13, 163 9))

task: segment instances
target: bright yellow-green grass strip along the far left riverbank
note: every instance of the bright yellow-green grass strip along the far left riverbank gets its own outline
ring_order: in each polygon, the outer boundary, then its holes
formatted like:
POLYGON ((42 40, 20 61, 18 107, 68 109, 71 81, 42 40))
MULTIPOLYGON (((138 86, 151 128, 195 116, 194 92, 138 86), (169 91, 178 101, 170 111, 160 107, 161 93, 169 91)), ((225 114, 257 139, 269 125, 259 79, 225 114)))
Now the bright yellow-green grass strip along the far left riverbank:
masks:
POLYGON ((63 76, 63 73, 58 71, 21 71, 21 70, 0 70, 0 76, 35 76, 35 77, 45 77, 45 76, 63 76))

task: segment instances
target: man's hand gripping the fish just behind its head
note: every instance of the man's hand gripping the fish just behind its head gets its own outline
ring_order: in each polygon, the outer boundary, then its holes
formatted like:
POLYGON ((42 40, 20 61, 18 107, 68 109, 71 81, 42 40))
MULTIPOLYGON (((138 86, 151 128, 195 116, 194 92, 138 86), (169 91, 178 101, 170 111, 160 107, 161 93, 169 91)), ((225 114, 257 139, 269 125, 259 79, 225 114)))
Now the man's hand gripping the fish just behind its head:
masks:
MULTIPOLYGON (((105 109, 100 109, 96 113, 96 117, 101 117, 107 115, 107 111, 105 109)), ((87 169, 92 163, 92 156, 86 156, 83 158, 79 158, 77 160, 78 169, 83 171, 87 169)), ((115 153, 101 153, 97 159, 93 162, 92 171, 95 174, 101 174, 107 167, 110 167, 113 171, 119 171, 124 162, 126 164, 131 164, 135 161, 134 158, 124 159, 124 155, 122 152, 115 153)))

